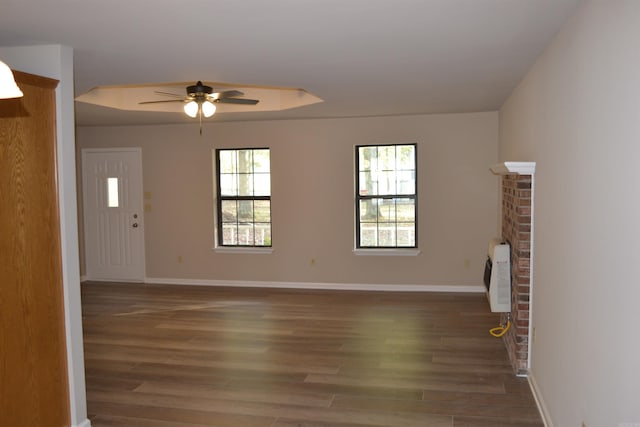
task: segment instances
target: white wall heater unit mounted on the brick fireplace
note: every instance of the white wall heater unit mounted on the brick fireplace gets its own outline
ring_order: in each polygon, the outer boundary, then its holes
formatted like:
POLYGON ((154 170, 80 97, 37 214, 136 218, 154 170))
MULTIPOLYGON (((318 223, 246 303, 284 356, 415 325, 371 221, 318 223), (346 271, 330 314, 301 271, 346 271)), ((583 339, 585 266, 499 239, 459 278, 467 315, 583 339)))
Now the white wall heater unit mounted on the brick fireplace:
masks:
POLYGON ((484 267, 484 284, 491 311, 511 311, 511 250, 500 239, 489 242, 489 256, 484 267))

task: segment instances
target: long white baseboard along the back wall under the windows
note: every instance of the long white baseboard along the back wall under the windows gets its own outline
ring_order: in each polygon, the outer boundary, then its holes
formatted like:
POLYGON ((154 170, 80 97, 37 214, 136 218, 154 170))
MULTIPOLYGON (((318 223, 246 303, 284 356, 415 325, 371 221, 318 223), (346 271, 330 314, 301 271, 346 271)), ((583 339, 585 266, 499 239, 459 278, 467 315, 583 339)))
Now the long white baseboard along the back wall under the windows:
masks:
POLYGON ((313 283, 313 282, 265 282, 242 280, 172 279, 146 277, 144 283, 158 285, 191 286, 235 286, 244 288, 285 288, 285 289, 325 289, 343 291, 386 291, 386 292, 472 292, 484 293, 482 285, 391 285, 364 283, 313 283))

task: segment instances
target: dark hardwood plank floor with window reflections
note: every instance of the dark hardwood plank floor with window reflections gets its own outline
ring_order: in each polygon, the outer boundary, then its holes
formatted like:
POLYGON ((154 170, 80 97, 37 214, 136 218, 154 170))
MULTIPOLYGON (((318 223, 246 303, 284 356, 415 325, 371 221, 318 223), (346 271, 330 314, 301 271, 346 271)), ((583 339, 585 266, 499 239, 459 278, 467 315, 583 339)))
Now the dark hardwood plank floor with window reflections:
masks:
POLYGON ((93 427, 542 426, 482 294, 85 283, 93 427))

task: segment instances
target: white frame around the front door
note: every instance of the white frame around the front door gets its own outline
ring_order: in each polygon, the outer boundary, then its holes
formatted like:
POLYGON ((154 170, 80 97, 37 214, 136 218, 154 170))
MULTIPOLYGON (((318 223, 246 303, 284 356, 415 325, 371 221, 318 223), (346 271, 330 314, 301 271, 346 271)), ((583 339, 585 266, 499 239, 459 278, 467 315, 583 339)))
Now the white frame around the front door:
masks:
POLYGON ((145 272, 146 272, 146 260, 145 260, 145 237, 144 237, 144 196, 143 196, 143 180, 142 180, 142 148, 140 147, 118 147, 118 148, 83 148, 81 150, 82 153, 82 197, 83 197, 83 242, 84 242, 84 264, 85 264, 85 275, 88 280, 105 280, 105 281, 126 281, 126 282, 144 282, 145 280, 145 272), (138 165, 138 181, 140 183, 140 197, 139 200, 135 201, 137 204, 136 211, 138 214, 137 222, 137 230, 136 233, 140 235, 140 266, 137 269, 137 273, 132 277, 114 277, 114 278, 103 278, 103 277, 92 277, 92 272, 89 269, 89 248, 87 245, 87 230, 89 227, 89 215, 87 215, 87 203, 89 200, 88 196, 88 183, 86 182, 87 177, 85 176, 85 159, 88 154, 92 153, 118 153, 118 152, 128 152, 128 153, 138 153, 138 158, 140 160, 140 164, 138 165))

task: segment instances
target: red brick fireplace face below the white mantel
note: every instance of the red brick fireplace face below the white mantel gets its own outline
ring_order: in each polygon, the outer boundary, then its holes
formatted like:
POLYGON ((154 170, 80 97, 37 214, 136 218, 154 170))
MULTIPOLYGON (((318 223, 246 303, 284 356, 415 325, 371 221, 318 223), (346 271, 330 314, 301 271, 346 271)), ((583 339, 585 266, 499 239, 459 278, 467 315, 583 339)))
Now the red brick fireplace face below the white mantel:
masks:
POLYGON ((502 177, 502 239, 511 245, 511 329, 504 340, 518 375, 528 373, 531 181, 531 175, 502 177))

